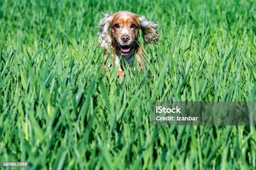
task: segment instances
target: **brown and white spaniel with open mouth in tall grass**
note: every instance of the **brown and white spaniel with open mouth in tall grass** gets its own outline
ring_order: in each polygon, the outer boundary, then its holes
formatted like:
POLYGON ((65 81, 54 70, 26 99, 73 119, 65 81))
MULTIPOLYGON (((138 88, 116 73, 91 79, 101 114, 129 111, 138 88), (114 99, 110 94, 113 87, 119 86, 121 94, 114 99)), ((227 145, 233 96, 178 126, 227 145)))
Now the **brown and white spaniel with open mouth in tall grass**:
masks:
MULTIPOLYGON (((123 79, 123 70, 126 64, 132 66, 133 57, 136 57, 137 66, 143 67, 143 56, 145 51, 138 42, 139 29, 145 43, 157 42, 159 35, 158 25, 155 22, 147 21, 145 16, 120 11, 118 13, 102 13, 104 18, 98 23, 98 44, 105 50, 104 60, 111 52, 111 62, 118 67, 118 75, 123 79), (110 50, 110 51, 109 51, 110 50), (135 54, 136 53, 136 54, 135 54)), ((108 68, 110 64, 108 64, 108 68)), ((106 66, 102 65, 105 69, 106 66)))

